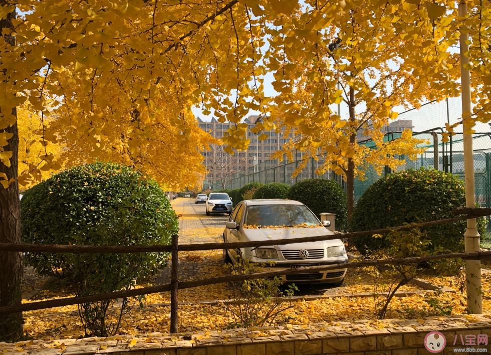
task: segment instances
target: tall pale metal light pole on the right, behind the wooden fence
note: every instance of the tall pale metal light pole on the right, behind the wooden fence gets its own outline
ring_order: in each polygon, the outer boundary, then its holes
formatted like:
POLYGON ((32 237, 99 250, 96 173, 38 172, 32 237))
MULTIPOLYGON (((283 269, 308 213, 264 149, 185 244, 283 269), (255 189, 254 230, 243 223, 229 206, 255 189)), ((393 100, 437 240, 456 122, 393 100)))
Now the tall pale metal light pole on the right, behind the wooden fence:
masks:
MULTIPOLYGON (((467 4, 460 0, 458 16, 464 18, 467 15, 467 4)), ((460 30, 460 82, 462 85, 462 112, 471 112, 470 101, 470 71, 464 66, 469 64, 469 57, 464 53, 469 51, 466 28, 460 30), (465 32, 465 33, 464 33, 465 32)), ((468 113, 466 114, 468 115, 468 113)), ((465 118, 465 117, 463 117, 465 118)), ((463 133, 464 172, 465 172, 465 207, 475 207, 474 190, 474 156, 472 151, 472 134, 463 133)), ((480 235, 477 232, 475 218, 467 220, 467 229, 464 233, 465 251, 480 250, 480 235)), ((465 279, 467 283, 467 312, 469 314, 482 313, 481 297, 481 262, 479 260, 465 261, 465 279)))

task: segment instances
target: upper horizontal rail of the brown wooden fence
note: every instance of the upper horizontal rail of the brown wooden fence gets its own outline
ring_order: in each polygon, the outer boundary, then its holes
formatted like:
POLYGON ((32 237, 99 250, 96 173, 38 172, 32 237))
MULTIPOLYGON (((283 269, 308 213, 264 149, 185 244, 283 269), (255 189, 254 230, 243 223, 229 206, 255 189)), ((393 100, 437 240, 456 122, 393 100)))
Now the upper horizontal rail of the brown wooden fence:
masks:
MULTIPOLYGON (((486 209, 487 210, 487 209, 486 209)), ((213 249, 237 249, 237 248, 258 248, 273 245, 286 245, 307 242, 319 242, 324 240, 333 240, 351 237, 366 237, 374 234, 386 234, 391 231, 403 231, 415 227, 429 227, 445 223, 458 222, 476 217, 483 217, 486 214, 472 214, 461 217, 452 217, 444 220, 410 224, 392 228, 376 229, 372 231, 351 232, 343 234, 329 234, 315 237, 301 237, 291 239, 269 239, 255 242, 236 242, 236 243, 198 243, 198 244, 179 244, 179 251, 198 251, 213 249)), ((107 253, 155 253, 170 252, 170 245, 44 245, 44 244, 23 244, 23 243, 5 243, 0 244, 0 252, 33 252, 33 253, 80 253, 80 254, 107 254, 107 253)))

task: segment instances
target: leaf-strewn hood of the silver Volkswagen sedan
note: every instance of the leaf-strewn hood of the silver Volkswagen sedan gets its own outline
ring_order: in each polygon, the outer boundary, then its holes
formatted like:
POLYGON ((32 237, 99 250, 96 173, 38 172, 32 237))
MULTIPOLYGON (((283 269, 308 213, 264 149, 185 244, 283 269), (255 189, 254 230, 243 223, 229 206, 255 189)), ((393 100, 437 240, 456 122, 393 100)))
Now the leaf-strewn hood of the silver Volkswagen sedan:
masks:
MULTIPOLYGON (((260 240, 274 240, 274 239, 294 239, 302 237, 314 237, 314 236, 325 236, 334 235, 334 233, 325 227, 318 228, 261 228, 243 229, 244 234, 248 237, 250 241, 260 241, 260 240)), ((340 234, 342 238, 342 234, 340 234)), ((324 240, 318 242, 306 242, 306 243, 295 243, 280 245, 277 248, 280 250, 292 250, 292 249, 321 249, 327 247, 333 247, 343 245, 340 239, 324 240)))

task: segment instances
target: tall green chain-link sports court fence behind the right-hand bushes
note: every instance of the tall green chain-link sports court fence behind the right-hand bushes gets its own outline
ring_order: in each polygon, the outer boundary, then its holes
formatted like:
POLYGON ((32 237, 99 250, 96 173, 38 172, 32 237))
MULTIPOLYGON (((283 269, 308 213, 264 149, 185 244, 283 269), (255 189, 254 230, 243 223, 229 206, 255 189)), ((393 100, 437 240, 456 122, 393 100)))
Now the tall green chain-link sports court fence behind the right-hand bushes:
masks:
MULTIPOLYGON (((441 133, 445 131, 445 123, 453 124, 461 117, 460 98, 449 98, 439 103, 428 103, 419 109, 411 109, 399 114, 399 117, 391 122, 386 134, 387 139, 396 139, 400 137, 402 129, 412 127, 413 135, 423 139, 425 143, 421 144, 426 150, 416 160, 406 159, 397 170, 408 168, 427 168, 435 167, 435 149, 434 139, 438 141, 438 169, 446 172, 457 174, 459 179, 464 180, 464 161, 463 161, 463 141, 462 126, 454 129, 456 133, 451 137, 449 142, 441 141, 441 133), (400 122, 399 126, 397 122, 400 122), (431 132, 436 133, 432 134, 431 132)), ((474 150, 474 176, 475 176, 475 195, 476 201, 480 207, 491 208, 491 129, 489 125, 478 123, 474 128, 476 133, 473 135, 474 150)), ((370 141, 366 143, 369 145, 370 141)), ((270 161, 266 160, 256 165, 255 171, 241 170, 234 173, 227 182, 227 189, 237 189, 251 182, 261 182, 263 184, 279 182, 293 186, 299 181, 305 179, 336 179, 346 189, 346 183, 328 170, 322 175, 315 173, 316 169, 324 164, 323 156, 317 156, 318 160, 310 158, 305 168, 295 177, 292 177, 293 171, 301 164, 301 161, 293 161, 283 165, 273 166, 270 161)), ((402 159, 402 157, 401 157, 402 159)), ((382 174, 393 172, 385 168, 382 174)), ((366 189, 375 181, 380 179, 373 167, 365 171, 364 180, 355 180, 355 202, 361 197, 366 189)), ((212 190, 220 190, 219 181, 210 182, 212 190)), ((488 217, 488 232, 481 237, 483 248, 491 249, 491 219, 488 217)))

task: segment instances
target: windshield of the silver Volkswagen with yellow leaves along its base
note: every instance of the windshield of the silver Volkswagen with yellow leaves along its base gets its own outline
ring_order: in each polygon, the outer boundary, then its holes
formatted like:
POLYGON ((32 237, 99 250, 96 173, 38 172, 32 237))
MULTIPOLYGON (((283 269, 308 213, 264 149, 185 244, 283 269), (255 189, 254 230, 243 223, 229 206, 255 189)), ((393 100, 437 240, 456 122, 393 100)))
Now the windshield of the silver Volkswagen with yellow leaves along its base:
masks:
POLYGON ((244 224, 249 226, 320 226, 314 214, 304 205, 249 206, 244 224))

